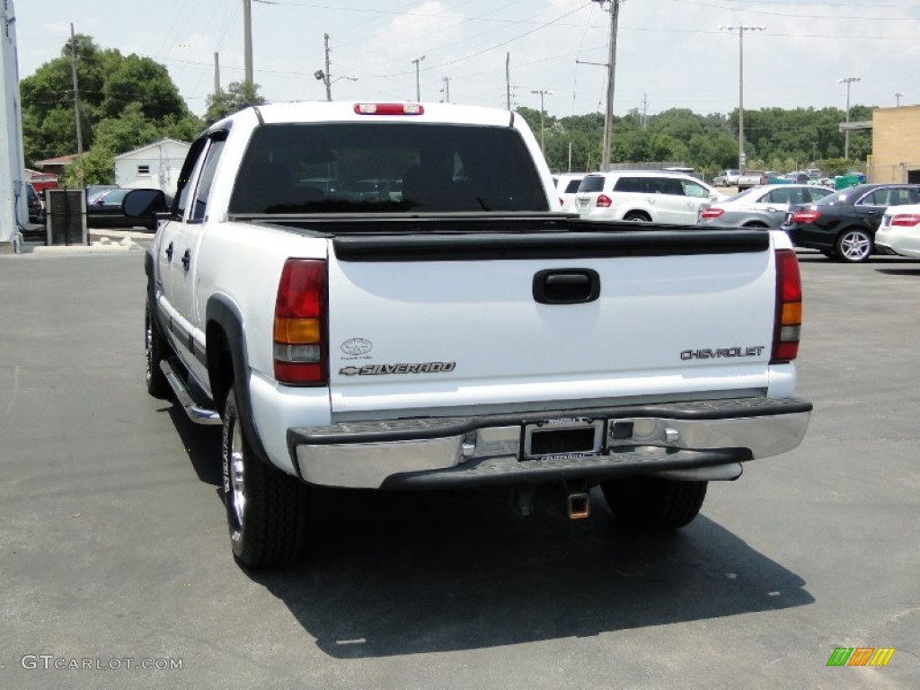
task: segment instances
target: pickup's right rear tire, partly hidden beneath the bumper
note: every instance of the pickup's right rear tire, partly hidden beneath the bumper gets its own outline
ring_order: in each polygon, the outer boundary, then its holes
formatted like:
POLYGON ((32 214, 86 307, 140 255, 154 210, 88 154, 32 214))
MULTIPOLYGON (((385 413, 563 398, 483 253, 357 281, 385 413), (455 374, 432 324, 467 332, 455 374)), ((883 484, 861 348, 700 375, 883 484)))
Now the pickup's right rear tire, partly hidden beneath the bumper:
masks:
POLYGON ((706 499, 706 481, 626 477, 601 484, 616 518, 633 529, 665 532, 696 518, 706 499))

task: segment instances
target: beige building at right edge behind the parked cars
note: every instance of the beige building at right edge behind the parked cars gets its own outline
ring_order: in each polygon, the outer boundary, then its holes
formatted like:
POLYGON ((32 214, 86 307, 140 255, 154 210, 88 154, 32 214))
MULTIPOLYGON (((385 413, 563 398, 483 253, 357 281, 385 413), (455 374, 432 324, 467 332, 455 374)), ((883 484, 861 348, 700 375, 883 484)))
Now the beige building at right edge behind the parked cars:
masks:
POLYGON ((872 111, 872 182, 920 183, 920 106, 872 111))

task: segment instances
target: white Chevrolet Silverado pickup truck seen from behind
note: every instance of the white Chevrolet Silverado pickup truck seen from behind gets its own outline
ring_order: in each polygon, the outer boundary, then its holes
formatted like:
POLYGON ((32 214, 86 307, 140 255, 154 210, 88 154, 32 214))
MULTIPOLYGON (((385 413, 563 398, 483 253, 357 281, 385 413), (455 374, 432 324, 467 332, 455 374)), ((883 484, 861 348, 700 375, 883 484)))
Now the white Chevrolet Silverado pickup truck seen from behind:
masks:
MULTIPOLYGON (((136 190, 135 216, 162 203, 136 190)), ((315 487, 537 485, 675 529, 801 441, 782 232, 559 213, 519 115, 243 110, 191 146, 146 255, 147 386, 221 424, 236 558, 310 548, 315 487)))

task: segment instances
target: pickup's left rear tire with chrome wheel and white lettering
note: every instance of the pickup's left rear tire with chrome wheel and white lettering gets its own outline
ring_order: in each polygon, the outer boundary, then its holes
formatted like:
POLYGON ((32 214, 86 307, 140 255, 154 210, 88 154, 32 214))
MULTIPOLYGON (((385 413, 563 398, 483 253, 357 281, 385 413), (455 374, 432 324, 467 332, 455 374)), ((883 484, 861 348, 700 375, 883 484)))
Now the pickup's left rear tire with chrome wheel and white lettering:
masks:
POLYGON ((240 423, 235 390, 224 405, 222 455, 234 558, 249 568, 290 565, 304 558, 309 488, 257 456, 240 423))

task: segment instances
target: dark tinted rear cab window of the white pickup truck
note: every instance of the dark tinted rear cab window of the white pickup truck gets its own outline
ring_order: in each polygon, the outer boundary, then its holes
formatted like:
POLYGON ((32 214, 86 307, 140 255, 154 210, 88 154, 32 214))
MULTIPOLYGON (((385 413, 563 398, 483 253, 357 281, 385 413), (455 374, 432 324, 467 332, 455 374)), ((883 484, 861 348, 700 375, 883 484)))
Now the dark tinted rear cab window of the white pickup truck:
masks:
POLYGON ((547 212, 520 134, 504 127, 282 123, 253 132, 229 212, 547 212))

